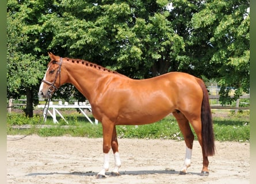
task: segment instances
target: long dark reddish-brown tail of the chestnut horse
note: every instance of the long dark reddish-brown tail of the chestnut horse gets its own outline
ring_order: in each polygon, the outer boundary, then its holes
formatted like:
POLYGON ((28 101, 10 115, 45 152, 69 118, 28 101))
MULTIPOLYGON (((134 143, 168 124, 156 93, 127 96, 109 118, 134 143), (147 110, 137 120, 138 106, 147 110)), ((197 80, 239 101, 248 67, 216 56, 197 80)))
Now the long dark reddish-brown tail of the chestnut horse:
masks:
POLYGON ((209 104, 208 91, 201 79, 197 79, 202 88, 201 122, 202 122, 202 147, 206 156, 215 155, 215 136, 213 133, 212 112, 209 104))

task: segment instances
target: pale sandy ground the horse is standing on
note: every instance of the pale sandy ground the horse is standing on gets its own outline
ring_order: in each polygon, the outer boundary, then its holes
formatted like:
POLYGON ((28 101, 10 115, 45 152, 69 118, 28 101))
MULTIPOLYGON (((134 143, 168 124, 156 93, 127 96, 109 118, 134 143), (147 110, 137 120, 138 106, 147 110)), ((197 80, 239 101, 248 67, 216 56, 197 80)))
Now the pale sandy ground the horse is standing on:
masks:
MULTIPOLYGON (((178 174, 185 157, 184 141, 119 139, 119 148, 121 175, 96 179, 102 168, 102 139, 32 135, 22 140, 7 140, 7 183, 243 184, 250 181, 250 143, 216 142, 217 154, 209 157, 208 177, 199 176, 202 156, 197 141, 187 175, 178 174)), ((110 171, 113 167, 114 159, 110 156, 110 171)))

